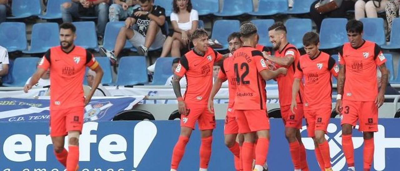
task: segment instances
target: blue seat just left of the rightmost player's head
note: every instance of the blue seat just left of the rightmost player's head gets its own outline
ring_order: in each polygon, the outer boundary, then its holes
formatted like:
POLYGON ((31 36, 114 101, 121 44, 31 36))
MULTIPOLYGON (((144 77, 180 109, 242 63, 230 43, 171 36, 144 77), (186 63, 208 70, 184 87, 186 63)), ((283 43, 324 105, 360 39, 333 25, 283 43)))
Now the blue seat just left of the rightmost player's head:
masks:
POLYGON ((348 42, 346 18, 325 18, 320 30, 320 49, 333 49, 348 42))

